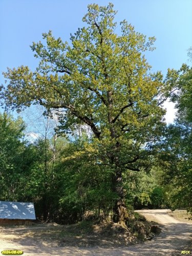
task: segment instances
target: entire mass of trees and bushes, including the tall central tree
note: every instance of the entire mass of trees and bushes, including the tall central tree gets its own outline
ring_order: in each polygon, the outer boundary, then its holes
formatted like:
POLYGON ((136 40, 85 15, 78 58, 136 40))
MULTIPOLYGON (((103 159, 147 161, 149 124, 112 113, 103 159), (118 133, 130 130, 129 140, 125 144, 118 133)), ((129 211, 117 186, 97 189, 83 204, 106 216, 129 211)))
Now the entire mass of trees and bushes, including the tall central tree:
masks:
POLYGON ((44 222, 119 221, 123 207, 128 216, 143 207, 192 211, 192 69, 151 74, 143 52, 155 38, 147 41, 125 20, 117 36, 115 14, 112 4, 90 5, 88 27, 71 35, 71 45, 44 33, 46 46, 31 46, 41 59, 36 72, 4 73, 1 200, 34 202, 44 222), (169 125, 161 107, 167 99, 177 109, 169 125), (8 111, 31 104, 45 111, 34 141, 8 111))

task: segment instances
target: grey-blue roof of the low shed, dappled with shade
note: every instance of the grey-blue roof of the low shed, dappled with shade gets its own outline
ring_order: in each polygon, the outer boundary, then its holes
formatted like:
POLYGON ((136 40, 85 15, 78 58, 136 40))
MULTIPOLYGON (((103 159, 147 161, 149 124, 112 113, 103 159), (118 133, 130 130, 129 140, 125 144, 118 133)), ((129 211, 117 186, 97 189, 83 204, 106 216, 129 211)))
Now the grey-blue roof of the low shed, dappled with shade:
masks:
POLYGON ((0 201, 0 219, 35 220, 34 204, 0 201))

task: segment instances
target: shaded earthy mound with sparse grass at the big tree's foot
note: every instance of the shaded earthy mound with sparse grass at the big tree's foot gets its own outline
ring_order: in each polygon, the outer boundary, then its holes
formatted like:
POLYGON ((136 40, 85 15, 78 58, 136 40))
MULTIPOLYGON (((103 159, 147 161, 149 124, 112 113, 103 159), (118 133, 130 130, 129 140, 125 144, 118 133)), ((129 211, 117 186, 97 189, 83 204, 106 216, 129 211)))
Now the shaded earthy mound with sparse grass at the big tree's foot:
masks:
POLYGON ((73 225, 50 223, 34 224, 31 227, 7 226, 4 229, 7 229, 9 237, 14 234, 14 237, 16 235, 19 239, 27 237, 48 246, 117 247, 142 242, 146 235, 150 236, 151 225, 154 224, 141 217, 130 221, 127 229, 106 221, 82 221, 73 225))

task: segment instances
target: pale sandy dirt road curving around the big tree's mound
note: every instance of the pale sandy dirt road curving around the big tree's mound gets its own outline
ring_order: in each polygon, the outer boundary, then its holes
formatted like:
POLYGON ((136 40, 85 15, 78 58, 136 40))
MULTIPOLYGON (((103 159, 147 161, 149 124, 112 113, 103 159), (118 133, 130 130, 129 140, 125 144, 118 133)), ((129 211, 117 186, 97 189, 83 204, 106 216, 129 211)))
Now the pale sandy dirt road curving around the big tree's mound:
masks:
MULTIPOLYGON (((139 210, 146 218, 151 217, 163 224, 163 230, 158 237, 143 244, 129 247, 59 247, 44 239, 35 240, 20 236, 16 228, 0 227, 0 251, 5 249, 23 250, 25 256, 32 255, 181 255, 181 250, 190 250, 192 254, 192 224, 177 221, 168 216, 170 210, 139 210)), ((38 227, 24 227, 29 229, 38 227)), ((20 229, 22 230, 22 229, 20 229)), ((24 231, 24 230, 23 230, 24 231)))

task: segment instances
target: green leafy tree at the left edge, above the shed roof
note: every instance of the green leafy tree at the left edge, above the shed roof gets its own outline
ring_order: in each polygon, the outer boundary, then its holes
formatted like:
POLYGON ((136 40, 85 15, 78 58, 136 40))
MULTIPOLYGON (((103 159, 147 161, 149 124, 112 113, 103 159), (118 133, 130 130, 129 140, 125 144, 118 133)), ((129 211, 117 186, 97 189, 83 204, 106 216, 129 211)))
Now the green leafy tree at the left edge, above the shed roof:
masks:
POLYGON ((20 179, 27 171, 25 157, 25 125, 21 119, 14 120, 6 113, 0 114, 0 186, 1 199, 18 198, 20 179))

